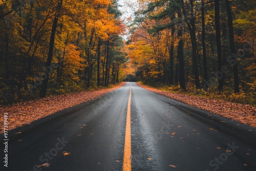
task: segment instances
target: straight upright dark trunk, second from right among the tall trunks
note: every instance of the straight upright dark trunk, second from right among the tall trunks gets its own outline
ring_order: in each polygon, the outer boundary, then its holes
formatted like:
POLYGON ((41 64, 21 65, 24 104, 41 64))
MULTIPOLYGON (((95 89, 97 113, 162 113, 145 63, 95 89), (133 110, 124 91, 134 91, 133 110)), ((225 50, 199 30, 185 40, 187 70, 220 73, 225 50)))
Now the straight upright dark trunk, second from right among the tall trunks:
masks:
POLYGON ((219 74, 222 68, 222 50, 221 50, 221 27, 220 27, 220 1, 215 0, 215 27, 216 27, 216 43, 217 43, 217 53, 218 53, 218 72, 217 76, 219 79, 219 90, 223 90, 223 75, 219 74))

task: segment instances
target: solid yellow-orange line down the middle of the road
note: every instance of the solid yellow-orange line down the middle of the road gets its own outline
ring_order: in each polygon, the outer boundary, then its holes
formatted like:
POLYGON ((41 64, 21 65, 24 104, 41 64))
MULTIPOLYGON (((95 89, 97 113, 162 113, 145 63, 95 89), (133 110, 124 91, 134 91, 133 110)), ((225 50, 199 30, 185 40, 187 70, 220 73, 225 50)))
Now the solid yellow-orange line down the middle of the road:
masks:
POLYGON ((127 108, 125 140, 124 140, 123 171, 132 170, 131 98, 132 98, 132 86, 130 84, 130 96, 129 96, 128 108, 127 108))

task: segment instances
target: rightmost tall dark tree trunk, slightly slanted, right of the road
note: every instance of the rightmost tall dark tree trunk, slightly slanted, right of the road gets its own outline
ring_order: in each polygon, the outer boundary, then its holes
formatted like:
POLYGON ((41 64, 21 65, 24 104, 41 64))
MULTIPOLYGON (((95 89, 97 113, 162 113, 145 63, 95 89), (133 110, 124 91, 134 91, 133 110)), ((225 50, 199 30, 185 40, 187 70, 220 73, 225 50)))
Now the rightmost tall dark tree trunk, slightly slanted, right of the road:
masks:
POLYGON ((236 50, 234 48, 234 33, 233 33, 233 23, 232 23, 232 12, 228 0, 225 0, 227 8, 227 17, 228 17, 228 29, 229 29, 229 42, 231 48, 231 57, 233 61, 233 73, 234 73, 234 92, 239 93, 239 77, 238 77, 238 66, 236 59, 236 50))

